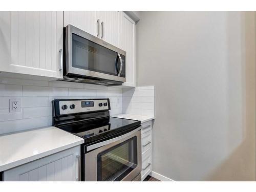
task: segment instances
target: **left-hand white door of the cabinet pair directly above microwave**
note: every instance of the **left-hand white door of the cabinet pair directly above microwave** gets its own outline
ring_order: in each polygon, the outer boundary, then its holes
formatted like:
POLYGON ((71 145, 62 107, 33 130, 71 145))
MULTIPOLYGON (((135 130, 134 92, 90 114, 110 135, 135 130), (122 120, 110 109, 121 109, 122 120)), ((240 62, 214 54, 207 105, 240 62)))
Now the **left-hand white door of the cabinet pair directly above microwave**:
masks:
POLYGON ((99 11, 64 11, 64 27, 71 24, 99 37, 99 11))

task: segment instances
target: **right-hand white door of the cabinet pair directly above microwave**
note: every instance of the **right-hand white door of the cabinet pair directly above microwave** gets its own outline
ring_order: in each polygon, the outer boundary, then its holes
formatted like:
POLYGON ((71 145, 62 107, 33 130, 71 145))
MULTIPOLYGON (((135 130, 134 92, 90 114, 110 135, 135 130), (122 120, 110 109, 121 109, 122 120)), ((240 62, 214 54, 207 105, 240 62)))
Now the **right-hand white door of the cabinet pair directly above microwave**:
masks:
POLYGON ((120 11, 100 11, 100 38, 113 46, 119 47, 120 11))

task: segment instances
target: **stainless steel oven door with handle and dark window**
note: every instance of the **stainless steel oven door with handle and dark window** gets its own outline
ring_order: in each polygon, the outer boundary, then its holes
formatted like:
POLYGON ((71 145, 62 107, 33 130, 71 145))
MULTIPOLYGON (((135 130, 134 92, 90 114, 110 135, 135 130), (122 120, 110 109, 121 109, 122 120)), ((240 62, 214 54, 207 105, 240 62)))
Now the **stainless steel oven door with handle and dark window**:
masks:
POLYGON ((86 181, 132 181, 141 173, 141 126, 87 147, 86 181), (100 146, 100 147, 99 147, 100 146), (94 149, 95 148, 95 149, 94 149))

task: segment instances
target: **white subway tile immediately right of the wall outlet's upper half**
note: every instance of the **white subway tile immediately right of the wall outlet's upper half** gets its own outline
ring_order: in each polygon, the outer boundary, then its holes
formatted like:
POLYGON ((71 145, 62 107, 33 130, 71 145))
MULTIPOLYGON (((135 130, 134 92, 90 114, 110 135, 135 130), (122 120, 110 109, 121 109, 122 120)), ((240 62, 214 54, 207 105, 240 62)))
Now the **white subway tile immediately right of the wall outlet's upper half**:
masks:
POLYGON ((48 97, 22 97, 22 107, 48 106, 48 97))

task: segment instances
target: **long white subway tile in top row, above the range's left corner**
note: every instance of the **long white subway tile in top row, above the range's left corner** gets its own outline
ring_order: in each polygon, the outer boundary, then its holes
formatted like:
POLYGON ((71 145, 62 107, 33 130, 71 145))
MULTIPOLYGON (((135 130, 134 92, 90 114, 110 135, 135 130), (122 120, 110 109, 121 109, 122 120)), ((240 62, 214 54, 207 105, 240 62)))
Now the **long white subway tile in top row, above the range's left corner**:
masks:
POLYGON ((23 86, 23 96, 68 96, 68 88, 23 86))

